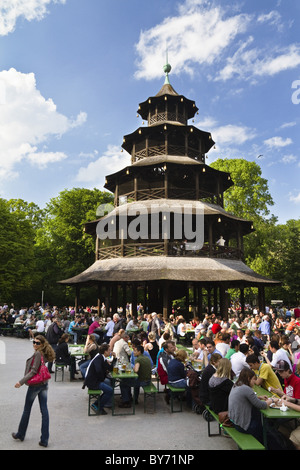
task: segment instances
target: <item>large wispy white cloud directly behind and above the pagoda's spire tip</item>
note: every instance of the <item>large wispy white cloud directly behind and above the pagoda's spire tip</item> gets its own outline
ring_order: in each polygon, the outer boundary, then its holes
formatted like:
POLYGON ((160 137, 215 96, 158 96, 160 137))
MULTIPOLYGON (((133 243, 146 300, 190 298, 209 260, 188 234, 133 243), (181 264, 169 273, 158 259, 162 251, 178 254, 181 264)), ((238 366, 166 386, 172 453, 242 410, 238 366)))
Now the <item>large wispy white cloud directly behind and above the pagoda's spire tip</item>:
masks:
POLYGON ((245 32, 250 15, 225 18, 220 6, 210 2, 187 0, 179 7, 178 16, 166 18, 161 24, 142 31, 136 51, 136 78, 161 77, 165 59, 162 49, 167 46, 175 74, 192 74, 195 64, 213 64, 234 39, 245 32))

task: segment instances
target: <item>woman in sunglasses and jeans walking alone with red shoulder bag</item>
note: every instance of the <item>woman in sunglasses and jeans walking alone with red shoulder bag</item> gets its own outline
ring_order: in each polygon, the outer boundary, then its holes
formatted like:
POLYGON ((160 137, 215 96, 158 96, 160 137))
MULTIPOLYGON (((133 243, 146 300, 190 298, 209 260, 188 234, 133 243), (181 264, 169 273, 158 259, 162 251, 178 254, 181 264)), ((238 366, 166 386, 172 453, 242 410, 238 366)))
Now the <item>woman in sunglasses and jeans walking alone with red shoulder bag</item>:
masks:
MULTIPOLYGON (((32 344, 34 353, 29 359, 27 359, 24 377, 16 383, 15 388, 20 388, 24 384, 28 385, 28 380, 37 374, 39 367, 42 365, 42 361, 44 363, 47 361, 53 362, 55 359, 55 353, 44 336, 36 336, 32 344)), ((14 439, 19 439, 20 441, 24 440, 29 423, 31 408, 34 400, 36 399, 36 397, 38 397, 42 414, 42 429, 39 445, 47 447, 49 439, 49 413, 47 407, 47 392, 47 381, 42 382, 38 385, 28 385, 25 406, 19 424, 19 429, 17 433, 12 433, 12 437, 14 439)))

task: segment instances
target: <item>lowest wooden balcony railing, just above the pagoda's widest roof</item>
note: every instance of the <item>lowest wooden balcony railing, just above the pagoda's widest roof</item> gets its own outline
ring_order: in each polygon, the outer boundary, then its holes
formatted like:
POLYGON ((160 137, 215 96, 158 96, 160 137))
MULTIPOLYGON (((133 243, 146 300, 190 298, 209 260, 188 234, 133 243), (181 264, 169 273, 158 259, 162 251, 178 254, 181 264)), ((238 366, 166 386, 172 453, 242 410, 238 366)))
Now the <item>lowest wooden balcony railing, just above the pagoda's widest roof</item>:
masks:
POLYGON ((204 244, 201 249, 181 242, 130 243, 115 246, 103 246, 98 250, 98 260, 111 258, 132 258, 142 256, 181 256, 201 258, 243 259, 242 250, 235 247, 204 244))

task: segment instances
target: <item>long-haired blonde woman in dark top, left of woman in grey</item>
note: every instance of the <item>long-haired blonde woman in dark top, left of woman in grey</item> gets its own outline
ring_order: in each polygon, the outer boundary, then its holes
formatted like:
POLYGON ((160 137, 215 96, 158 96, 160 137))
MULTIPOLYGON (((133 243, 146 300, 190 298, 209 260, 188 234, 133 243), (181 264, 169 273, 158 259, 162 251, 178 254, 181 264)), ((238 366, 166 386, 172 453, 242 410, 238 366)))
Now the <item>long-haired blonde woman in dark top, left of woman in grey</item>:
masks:
POLYGON ((228 397, 232 389, 231 362, 222 358, 218 362, 216 372, 209 379, 210 407, 215 413, 228 411, 228 397))

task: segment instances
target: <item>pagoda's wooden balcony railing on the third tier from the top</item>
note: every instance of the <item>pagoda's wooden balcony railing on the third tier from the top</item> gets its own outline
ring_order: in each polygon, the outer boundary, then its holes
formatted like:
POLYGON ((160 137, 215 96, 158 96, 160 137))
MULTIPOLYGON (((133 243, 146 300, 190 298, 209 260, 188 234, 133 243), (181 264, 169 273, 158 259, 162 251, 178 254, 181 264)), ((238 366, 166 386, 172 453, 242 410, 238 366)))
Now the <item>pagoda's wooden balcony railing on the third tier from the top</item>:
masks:
MULTIPOLYGON (((198 199, 207 200, 212 204, 216 203, 217 196, 209 193, 208 191, 199 190, 198 199)), ((163 199, 166 197, 165 188, 147 188, 147 189, 137 189, 136 191, 130 191, 126 194, 120 194, 117 204, 124 203, 125 201, 146 201, 148 199, 163 199), (121 199, 121 201, 120 201, 121 199)), ((196 189, 185 189, 185 188, 168 188, 167 198, 169 199, 187 199, 187 200, 196 200, 196 189)))

